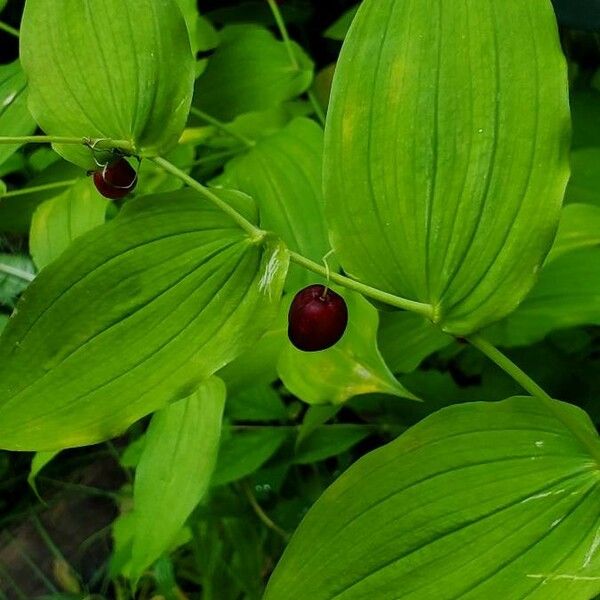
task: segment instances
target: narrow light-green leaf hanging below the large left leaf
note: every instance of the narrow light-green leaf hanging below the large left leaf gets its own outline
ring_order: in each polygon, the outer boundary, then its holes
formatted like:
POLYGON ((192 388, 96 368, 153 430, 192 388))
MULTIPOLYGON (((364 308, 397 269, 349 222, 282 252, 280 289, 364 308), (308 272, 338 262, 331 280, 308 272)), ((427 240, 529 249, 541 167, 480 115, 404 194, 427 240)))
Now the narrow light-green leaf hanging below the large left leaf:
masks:
POLYGON ((134 580, 170 547, 208 490, 224 405, 225 385, 213 377, 152 417, 133 488, 134 580))

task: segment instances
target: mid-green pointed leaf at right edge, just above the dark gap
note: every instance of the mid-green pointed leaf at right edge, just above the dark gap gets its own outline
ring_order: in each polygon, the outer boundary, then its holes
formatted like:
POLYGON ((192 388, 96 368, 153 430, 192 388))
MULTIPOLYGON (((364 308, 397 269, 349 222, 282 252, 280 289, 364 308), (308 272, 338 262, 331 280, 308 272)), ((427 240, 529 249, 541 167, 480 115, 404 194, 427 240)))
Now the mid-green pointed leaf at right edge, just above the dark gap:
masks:
POLYGON ((600 247, 568 252, 546 265, 519 308, 492 325, 488 337, 525 346, 580 325, 600 325, 600 247))

